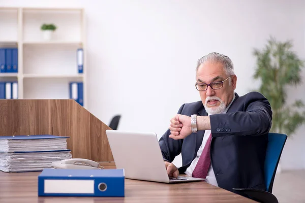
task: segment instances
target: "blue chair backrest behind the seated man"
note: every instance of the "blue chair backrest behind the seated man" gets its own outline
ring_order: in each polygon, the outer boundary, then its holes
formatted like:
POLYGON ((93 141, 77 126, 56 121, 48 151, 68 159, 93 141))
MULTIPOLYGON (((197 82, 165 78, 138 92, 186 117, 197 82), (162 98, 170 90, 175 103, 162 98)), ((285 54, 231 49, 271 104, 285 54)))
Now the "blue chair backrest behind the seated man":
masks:
POLYGON ((266 159, 264 164, 266 190, 272 193, 273 181, 284 145, 287 140, 286 134, 272 133, 268 134, 268 145, 266 151, 266 159))

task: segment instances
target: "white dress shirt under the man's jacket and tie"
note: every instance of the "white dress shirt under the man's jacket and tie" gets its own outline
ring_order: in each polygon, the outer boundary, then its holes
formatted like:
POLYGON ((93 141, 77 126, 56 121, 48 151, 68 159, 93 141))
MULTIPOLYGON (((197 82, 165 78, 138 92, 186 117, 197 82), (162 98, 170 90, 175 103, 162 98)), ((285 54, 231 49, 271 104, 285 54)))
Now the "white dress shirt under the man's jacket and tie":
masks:
MULTIPOLYGON (((224 112, 222 112, 223 114, 227 113, 229 107, 231 106, 231 104, 233 103, 234 99, 235 99, 235 94, 233 94, 233 99, 231 101, 231 103, 228 105, 228 107, 225 109, 224 112)), ((210 115, 210 114, 209 114, 210 115)), ((190 176, 192 177, 192 173, 195 169, 195 166, 199 160, 199 157, 204 149, 204 146, 208 140, 208 137, 211 133, 211 130, 205 130, 204 132, 204 136, 203 136, 203 139, 202 139, 202 144, 200 146, 200 148, 198 149, 198 152, 197 152, 197 156, 195 157, 195 159, 192 161, 191 165, 187 168, 185 174, 187 176, 190 176)), ((209 168, 208 168, 208 172, 207 172, 207 175, 206 175, 206 182, 211 184, 211 185, 215 185, 218 187, 218 184, 217 184, 217 180, 216 180, 216 177, 215 177, 215 174, 214 174, 214 171, 213 171, 213 167, 212 167, 212 164, 210 164, 209 168)))

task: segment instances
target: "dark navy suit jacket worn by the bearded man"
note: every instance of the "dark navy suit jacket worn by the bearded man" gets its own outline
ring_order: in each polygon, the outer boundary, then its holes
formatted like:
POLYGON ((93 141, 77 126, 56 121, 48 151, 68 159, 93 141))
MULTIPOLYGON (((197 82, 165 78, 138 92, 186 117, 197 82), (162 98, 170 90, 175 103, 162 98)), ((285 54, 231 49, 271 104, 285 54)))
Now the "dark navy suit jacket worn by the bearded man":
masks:
MULTIPOLYGON (((178 114, 207 116, 201 101, 182 105, 178 114)), ((235 193, 232 188, 266 190, 264 161, 271 120, 270 104, 258 92, 240 97, 235 93, 226 114, 210 115, 211 164, 219 187, 235 193)), ((197 155, 204 130, 183 140, 168 138, 169 134, 168 129, 159 141, 163 158, 172 162, 181 153, 179 173, 184 173, 197 155)))

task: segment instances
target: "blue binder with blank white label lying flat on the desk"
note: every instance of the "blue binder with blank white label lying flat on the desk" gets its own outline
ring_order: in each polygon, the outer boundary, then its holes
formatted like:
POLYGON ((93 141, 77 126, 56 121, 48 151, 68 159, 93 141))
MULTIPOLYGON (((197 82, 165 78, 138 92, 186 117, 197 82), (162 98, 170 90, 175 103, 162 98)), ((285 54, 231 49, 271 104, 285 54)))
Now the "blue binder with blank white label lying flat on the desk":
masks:
POLYGON ((45 168, 38 176, 38 196, 124 197, 124 169, 45 168))

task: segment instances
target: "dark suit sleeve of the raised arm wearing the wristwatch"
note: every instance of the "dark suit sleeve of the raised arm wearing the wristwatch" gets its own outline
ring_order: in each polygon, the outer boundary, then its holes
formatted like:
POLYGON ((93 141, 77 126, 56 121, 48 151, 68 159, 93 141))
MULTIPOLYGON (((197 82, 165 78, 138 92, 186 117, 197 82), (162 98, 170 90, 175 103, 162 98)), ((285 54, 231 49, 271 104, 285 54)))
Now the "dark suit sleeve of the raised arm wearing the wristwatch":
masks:
POLYGON ((258 92, 246 96, 243 111, 210 115, 212 137, 260 136, 269 132, 271 122, 271 106, 258 92))

